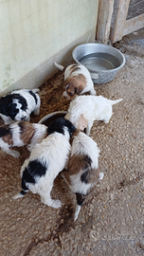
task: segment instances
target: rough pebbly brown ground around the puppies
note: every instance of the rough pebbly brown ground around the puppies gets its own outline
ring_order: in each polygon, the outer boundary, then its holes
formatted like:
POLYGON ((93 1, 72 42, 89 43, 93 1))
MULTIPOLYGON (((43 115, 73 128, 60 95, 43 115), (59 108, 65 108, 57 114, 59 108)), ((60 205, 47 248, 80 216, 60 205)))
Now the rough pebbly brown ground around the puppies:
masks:
MULTIPOLYGON (((59 210, 45 206, 31 192, 13 200, 21 190, 20 168, 29 153, 24 147, 14 158, 0 151, 1 256, 144 255, 144 54, 133 54, 125 46, 122 50, 126 64, 116 78, 95 84, 97 95, 123 101, 113 106, 108 124, 95 121, 91 130, 104 178, 75 223, 76 198, 60 175, 52 190, 53 198, 62 201, 59 210)), ((31 116, 31 122, 67 110, 62 94, 60 71, 40 86, 41 113, 31 116)))

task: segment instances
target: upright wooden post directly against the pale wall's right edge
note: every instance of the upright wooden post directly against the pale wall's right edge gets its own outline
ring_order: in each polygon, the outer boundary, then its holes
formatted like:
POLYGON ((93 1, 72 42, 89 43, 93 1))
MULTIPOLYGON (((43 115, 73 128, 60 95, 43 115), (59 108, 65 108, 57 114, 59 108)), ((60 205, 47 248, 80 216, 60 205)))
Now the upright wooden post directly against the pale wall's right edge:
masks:
POLYGON ((99 0, 96 40, 107 44, 109 40, 111 20, 115 0, 99 0))

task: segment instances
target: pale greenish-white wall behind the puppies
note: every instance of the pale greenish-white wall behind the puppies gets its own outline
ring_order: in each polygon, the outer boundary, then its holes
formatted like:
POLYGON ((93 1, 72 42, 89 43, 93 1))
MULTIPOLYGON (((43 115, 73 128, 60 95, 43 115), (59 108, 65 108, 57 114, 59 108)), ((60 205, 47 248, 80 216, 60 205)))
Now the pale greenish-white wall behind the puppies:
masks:
POLYGON ((0 0, 0 95, 34 88, 94 42, 99 0, 0 0))

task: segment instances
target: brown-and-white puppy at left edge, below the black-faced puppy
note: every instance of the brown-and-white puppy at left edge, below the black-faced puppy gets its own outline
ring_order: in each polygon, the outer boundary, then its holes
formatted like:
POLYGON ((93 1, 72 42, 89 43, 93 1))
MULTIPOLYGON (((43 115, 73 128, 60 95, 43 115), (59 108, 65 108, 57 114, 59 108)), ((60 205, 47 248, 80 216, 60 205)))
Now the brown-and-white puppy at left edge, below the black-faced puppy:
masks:
POLYGON ((30 123, 28 121, 15 121, 0 126, 0 147, 9 155, 19 157, 20 153, 12 147, 27 145, 31 151, 36 143, 40 143, 47 136, 45 124, 30 123))

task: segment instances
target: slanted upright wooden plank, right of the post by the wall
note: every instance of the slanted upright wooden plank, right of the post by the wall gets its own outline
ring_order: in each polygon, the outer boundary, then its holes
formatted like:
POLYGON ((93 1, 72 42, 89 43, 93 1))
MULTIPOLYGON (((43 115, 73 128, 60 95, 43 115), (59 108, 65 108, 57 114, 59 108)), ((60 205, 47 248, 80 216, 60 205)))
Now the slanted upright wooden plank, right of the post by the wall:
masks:
POLYGON ((122 39, 130 0, 117 0, 114 26, 112 27, 110 39, 115 43, 122 39))

